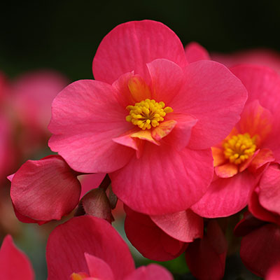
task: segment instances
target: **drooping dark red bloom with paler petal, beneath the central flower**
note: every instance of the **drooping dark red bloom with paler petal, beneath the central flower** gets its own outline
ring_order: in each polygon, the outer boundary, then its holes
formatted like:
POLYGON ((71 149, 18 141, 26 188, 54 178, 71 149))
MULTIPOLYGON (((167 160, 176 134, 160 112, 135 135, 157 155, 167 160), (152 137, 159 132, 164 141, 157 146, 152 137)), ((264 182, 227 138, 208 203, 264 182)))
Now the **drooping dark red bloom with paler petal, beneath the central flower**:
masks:
POLYGON ((189 242, 203 236, 203 219, 191 210, 147 216, 124 208, 127 238, 151 260, 173 260, 186 250, 189 242))

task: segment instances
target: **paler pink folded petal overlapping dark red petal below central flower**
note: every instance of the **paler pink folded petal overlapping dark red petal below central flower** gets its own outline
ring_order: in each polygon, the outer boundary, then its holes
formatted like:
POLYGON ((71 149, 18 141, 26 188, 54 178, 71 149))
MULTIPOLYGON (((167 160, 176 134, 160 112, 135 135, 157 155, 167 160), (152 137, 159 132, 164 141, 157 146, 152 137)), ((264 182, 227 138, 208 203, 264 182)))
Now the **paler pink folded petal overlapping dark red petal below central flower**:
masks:
POLYGON ((184 242, 203 237, 203 218, 190 209, 162 216, 151 216, 152 221, 167 235, 184 242))

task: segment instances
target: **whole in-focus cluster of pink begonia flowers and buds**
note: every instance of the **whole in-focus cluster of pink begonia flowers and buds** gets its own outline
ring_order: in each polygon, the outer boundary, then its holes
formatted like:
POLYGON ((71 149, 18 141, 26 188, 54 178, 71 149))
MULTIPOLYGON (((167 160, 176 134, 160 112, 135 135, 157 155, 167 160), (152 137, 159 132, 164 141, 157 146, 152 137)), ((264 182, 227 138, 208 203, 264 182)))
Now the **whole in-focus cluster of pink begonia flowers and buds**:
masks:
MULTIPOLYGON (((20 221, 60 220, 78 206, 79 217, 49 237, 48 279, 172 279, 158 265, 134 268, 108 223, 117 200, 142 255, 165 261, 186 252, 202 280, 223 278, 225 232, 248 207, 235 228, 241 259, 258 276, 279 275, 279 73, 228 68, 151 20, 107 34, 92 71, 95 80, 71 83, 52 102, 49 146, 58 155, 9 176, 20 221), (88 193, 82 174, 92 174, 88 193)), ((10 237, 0 260, 5 250, 15 252, 10 237)))

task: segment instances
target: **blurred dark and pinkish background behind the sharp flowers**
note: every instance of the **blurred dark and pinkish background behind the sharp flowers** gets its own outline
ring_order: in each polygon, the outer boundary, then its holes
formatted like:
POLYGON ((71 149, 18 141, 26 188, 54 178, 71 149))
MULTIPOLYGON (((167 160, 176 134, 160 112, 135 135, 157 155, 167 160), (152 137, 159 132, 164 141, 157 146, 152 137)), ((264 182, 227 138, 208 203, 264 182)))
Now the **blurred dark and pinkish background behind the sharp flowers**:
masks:
MULTIPOLYGON (((113 27, 130 20, 158 20, 173 29, 183 45, 197 41, 213 57, 269 49, 280 70, 278 0, 5 1, 0 13, 0 241, 12 234, 39 280, 46 279, 45 241, 55 224, 18 223, 6 176, 25 160, 50 153, 46 126, 51 100, 67 83, 93 78, 94 53, 113 27), (44 97, 32 104, 38 94, 44 97)), ((144 262, 139 259, 137 264, 144 262)), ((225 279, 257 279, 241 268, 236 272, 237 262, 241 267, 239 260, 229 262, 225 279)), ((167 267, 176 279, 193 279, 179 276, 188 272, 183 258, 167 267)))

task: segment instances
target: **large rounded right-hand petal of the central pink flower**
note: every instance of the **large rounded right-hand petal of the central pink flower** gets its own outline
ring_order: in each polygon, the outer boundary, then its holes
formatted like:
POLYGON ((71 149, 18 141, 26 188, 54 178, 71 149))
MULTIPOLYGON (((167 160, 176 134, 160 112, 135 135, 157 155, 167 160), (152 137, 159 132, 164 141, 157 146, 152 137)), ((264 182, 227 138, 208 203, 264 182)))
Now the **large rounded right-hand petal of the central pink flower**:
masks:
POLYGON ((246 97, 244 85, 225 66, 204 60, 186 66, 185 84, 169 106, 197 118, 189 146, 202 149, 225 139, 246 97))

